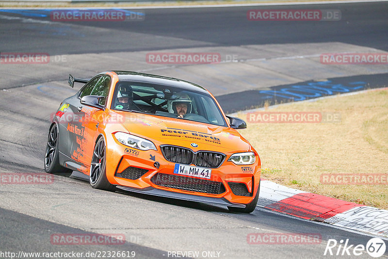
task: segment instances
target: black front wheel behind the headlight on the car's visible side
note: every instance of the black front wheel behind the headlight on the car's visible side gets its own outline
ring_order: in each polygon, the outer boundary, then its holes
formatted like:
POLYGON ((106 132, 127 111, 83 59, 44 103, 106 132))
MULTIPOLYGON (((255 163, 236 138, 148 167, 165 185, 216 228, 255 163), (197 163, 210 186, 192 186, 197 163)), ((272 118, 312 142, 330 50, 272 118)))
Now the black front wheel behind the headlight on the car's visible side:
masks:
POLYGON ((106 178, 106 146, 103 137, 97 140, 90 165, 90 185, 95 189, 114 191, 116 188, 106 178))

